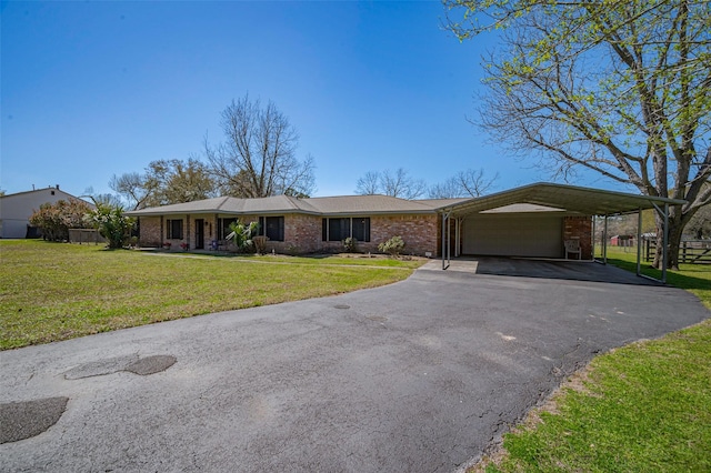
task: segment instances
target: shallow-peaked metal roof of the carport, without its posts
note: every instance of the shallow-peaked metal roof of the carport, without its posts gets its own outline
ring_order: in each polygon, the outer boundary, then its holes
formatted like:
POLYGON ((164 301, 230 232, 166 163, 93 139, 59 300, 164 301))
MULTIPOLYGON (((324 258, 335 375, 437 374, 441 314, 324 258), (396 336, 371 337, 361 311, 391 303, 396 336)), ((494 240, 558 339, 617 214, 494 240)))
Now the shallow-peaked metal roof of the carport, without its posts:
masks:
POLYGON ((451 211, 452 217, 467 217, 517 203, 553 207, 584 215, 612 215, 635 212, 640 209, 652 209, 660 204, 682 205, 687 202, 679 199, 629 194, 574 185, 537 183, 444 205, 439 210, 451 211))

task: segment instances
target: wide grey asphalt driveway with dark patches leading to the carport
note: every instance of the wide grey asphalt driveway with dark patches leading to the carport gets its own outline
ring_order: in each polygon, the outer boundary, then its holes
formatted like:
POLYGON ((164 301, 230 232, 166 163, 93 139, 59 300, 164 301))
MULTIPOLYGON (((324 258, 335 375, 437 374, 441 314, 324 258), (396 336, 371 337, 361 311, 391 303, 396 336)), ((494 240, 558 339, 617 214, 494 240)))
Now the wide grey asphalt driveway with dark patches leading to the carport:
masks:
POLYGON ((1 444, 0 469, 448 472, 595 354, 710 315, 609 266, 561 279, 438 264, 385 288, 1 352, 2 429, 33 409, 58 420, 1 444))

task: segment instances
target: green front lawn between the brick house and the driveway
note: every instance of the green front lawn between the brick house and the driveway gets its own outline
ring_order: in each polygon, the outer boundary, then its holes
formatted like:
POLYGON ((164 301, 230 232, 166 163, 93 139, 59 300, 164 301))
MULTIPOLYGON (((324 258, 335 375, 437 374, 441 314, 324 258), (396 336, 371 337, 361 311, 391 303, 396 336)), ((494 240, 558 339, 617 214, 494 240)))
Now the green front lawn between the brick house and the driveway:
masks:
POLYGON ((420 264, 0 241, 0 349, 373 288, 403 280, 420 264))

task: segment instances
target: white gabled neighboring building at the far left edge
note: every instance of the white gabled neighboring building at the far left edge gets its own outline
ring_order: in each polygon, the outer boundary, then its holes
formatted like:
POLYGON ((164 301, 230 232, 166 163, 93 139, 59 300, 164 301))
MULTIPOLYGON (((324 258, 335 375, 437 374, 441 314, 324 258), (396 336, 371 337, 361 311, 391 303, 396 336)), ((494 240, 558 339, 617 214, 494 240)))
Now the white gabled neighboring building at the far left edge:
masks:
POLYGON ((36 238, 37 229, 30 225, 30 217, 43 203, 77 199, 54 188, 37 189, 0 197, 0 238, 36 238))

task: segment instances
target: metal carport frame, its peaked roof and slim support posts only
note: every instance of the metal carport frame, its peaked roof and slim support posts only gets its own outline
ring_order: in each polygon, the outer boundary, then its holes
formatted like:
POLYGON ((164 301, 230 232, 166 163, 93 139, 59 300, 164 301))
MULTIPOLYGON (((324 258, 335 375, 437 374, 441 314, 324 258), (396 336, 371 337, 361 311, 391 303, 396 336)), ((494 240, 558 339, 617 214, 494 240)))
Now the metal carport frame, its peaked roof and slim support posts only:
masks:
MULTIPOLYGON (((583 215, 607 215, 639 212, 644 209, 658 209, 664 215, 664 234, 662 244, 662 278, 667 282, 668 241, 669 241, 669 205, 683 205, 684 200, 669 199, 653 195, 629 194, 624 192, 605 191, 602 189, 579 188, 575 185, 537 183, 498 192, 481 198, 473 198, 455 204, 443 205, 437 209, 442 214, 442 269, 447 269, 450 260, 450 225, 449 219, 461 219, 487 210, 499 209, 505 205, 528 203, 568 212, 578 212, 583 215), (447 234, 445 234, 447 232, 447 234), (445 255, 447 253, 447 255, 445 255)), ((638 233, 641 227, 638 224, 638 233)), ((607 263, 607 242, 603 245, 603 259, 607 263)), ((640 246, 637 251, 637 274, 640 271, 640 246)))

